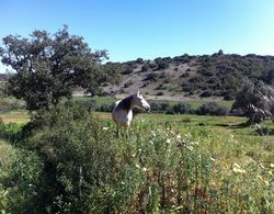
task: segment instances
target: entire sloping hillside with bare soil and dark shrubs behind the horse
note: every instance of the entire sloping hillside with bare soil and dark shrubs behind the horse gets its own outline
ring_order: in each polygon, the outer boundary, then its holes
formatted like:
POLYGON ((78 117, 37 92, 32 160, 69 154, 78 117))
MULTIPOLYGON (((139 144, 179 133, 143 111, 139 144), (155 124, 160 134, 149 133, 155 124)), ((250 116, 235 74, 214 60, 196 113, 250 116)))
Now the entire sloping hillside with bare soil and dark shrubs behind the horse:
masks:
MULTIPOLYGON (((113 64, 113 63, 109 63, 113 64)), ((156 58, 115 64, 118 86, 105 86, 106 94, 124 95, 140 89, 150 99, 233 99, 243 79, 274 83, 274 56, 222 54, 156 58)))

